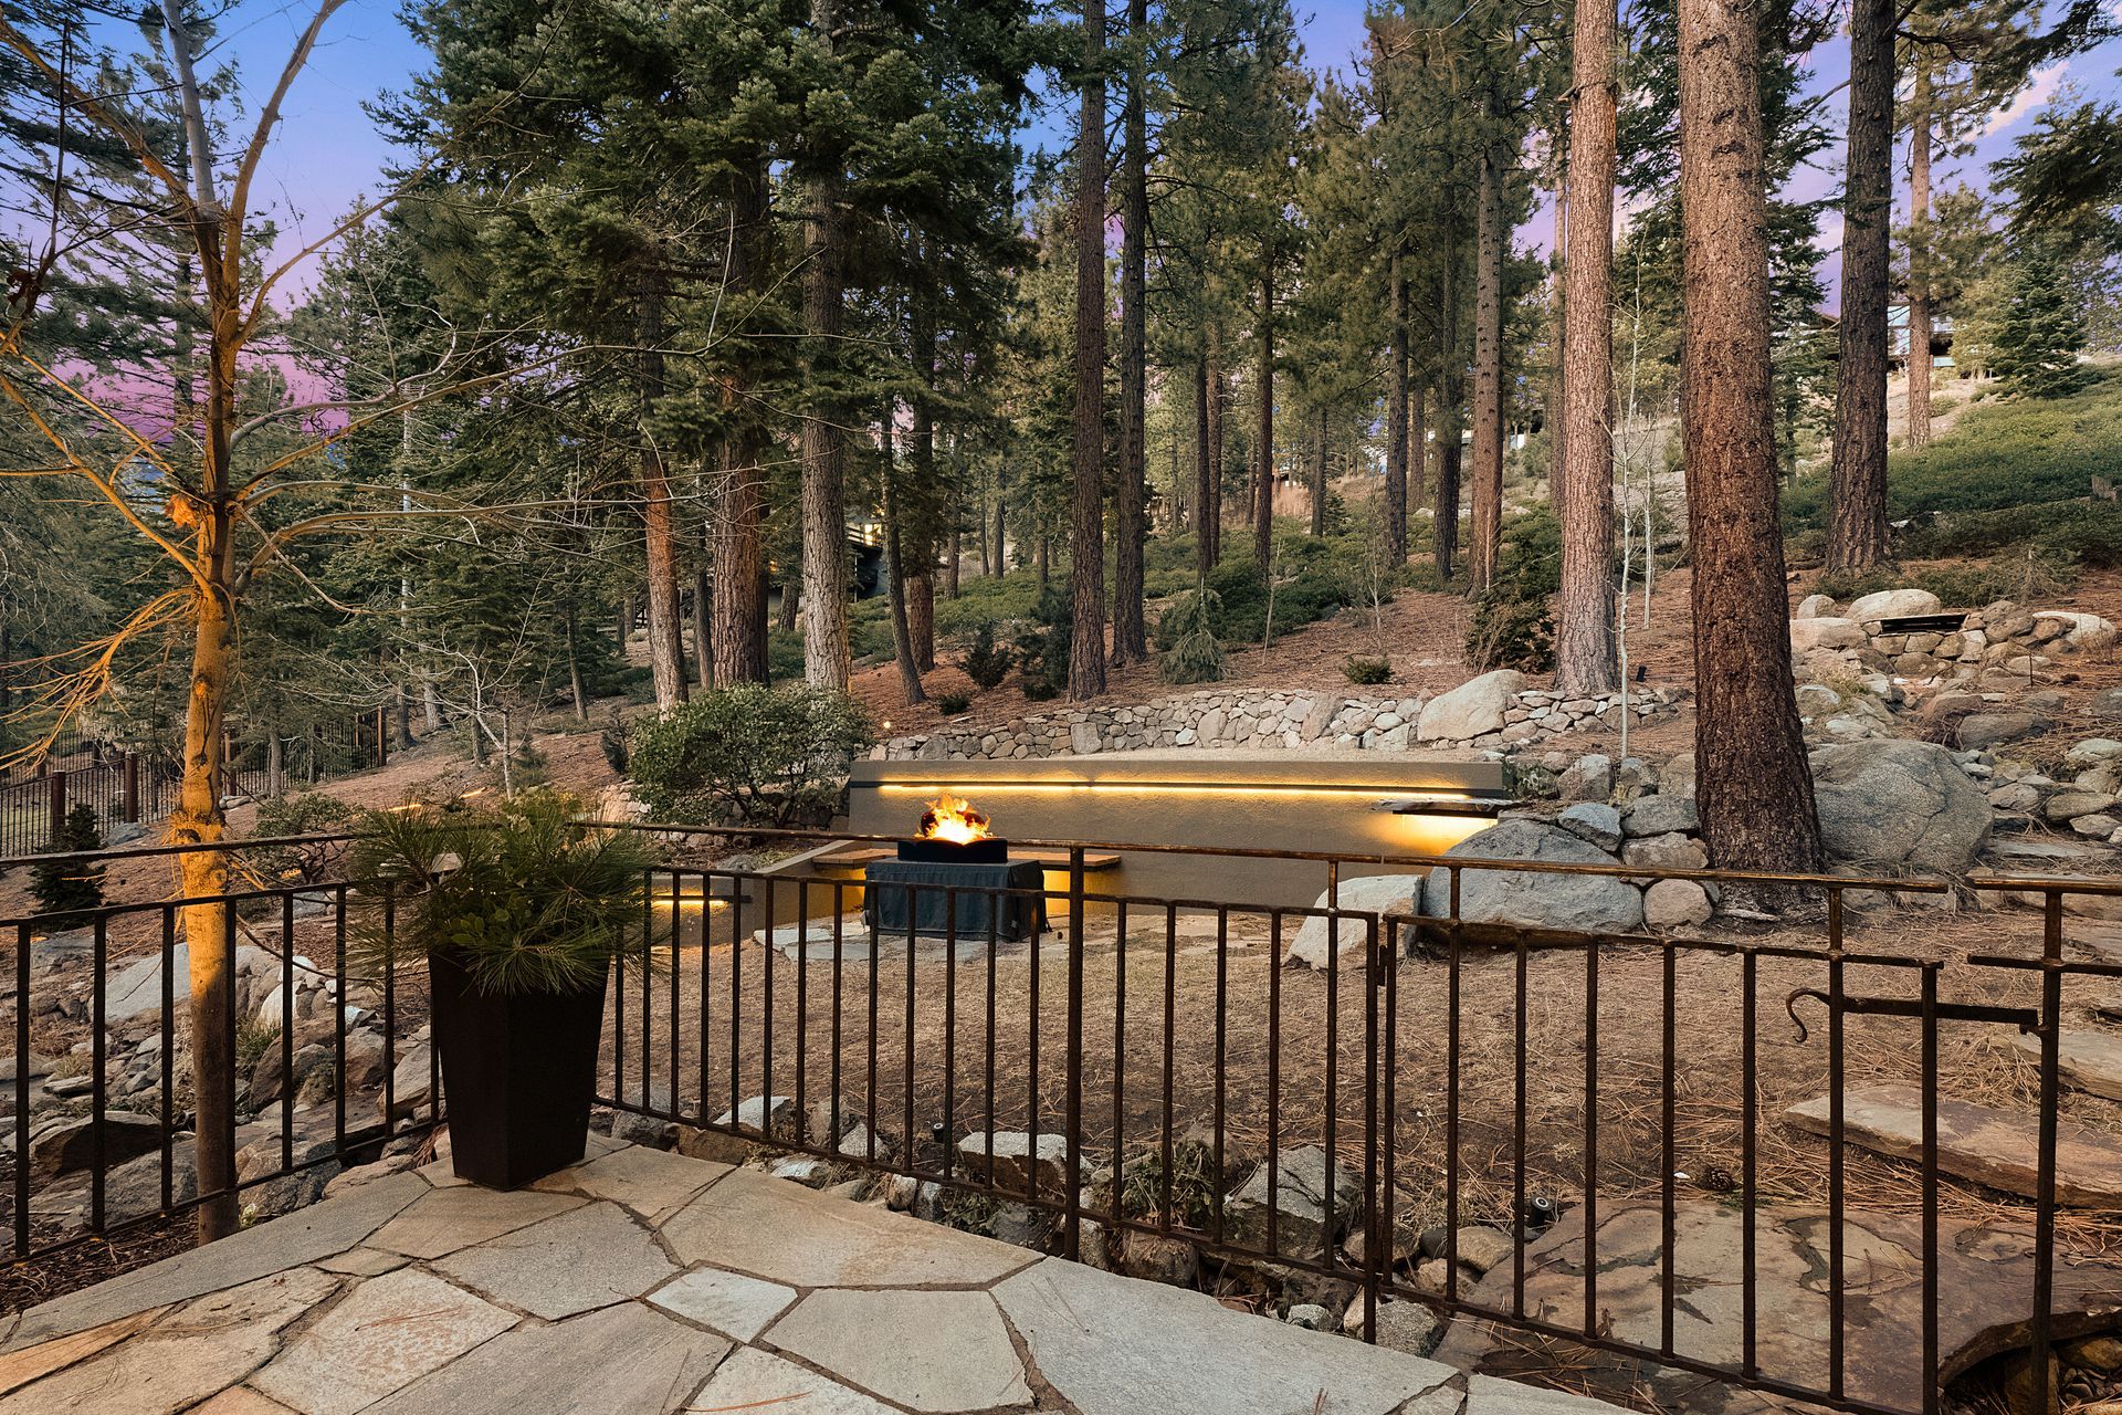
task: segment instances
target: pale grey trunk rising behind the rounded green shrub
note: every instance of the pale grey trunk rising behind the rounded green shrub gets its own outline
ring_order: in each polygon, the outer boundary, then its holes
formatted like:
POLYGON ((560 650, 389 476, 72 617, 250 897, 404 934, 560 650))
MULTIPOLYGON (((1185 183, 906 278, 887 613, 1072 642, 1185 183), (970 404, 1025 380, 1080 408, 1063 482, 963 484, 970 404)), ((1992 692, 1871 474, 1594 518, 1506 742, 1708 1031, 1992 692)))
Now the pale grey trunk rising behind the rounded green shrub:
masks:
MULTIPOLYGON (((838 0, 811 0, 811 30, 830 49, 838 0)), ((825 159, 838 163, 838 159, 825 159)), ((802 422, 802 666, 813 687, 847 692, 847 439, 832 395, 838 375, 840 174, 819 168, 804 182, 802 312, 811 407, 802 422)))

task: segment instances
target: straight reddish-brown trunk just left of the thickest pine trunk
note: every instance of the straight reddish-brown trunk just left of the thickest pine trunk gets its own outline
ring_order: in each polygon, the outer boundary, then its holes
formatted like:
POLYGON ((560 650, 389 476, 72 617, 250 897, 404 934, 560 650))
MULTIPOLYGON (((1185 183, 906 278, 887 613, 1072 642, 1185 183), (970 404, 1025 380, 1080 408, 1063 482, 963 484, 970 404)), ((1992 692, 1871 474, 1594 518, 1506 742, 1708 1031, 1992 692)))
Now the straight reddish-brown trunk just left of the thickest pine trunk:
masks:
POLYGON ((1572 698, 1621 683, 1613 605, 1613 174, 1615 0, 1577 0, 1570 187, 1562 308, 1562 596, 1555 689, 1572 698))

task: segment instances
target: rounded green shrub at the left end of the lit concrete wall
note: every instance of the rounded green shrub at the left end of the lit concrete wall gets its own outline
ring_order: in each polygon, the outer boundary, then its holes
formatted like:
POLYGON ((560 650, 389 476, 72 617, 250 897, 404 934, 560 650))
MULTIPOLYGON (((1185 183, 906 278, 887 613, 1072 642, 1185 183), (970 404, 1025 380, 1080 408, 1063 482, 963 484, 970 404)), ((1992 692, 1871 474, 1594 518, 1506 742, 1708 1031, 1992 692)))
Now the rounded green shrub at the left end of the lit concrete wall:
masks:
POLYGON ((736 683, 639 726, 632 779, 649 810, 679 821, 823 823, 849 762, 874 743, 847 694, 736 683))

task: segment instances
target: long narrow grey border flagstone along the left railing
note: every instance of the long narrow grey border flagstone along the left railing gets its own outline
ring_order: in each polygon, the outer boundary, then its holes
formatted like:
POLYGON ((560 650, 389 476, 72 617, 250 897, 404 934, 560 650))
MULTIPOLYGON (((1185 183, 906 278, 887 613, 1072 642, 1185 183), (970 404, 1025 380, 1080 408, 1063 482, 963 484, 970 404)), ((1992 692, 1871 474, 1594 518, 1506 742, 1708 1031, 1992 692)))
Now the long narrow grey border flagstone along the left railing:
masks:
POLYGON ((346 1252, 427 1192, 427 1182, 418 1175, 388 1175, 344 1199, 297 1209, 219 1243, 68 1292, 23 1313, 6 1347, 15 1351, 346 1252))

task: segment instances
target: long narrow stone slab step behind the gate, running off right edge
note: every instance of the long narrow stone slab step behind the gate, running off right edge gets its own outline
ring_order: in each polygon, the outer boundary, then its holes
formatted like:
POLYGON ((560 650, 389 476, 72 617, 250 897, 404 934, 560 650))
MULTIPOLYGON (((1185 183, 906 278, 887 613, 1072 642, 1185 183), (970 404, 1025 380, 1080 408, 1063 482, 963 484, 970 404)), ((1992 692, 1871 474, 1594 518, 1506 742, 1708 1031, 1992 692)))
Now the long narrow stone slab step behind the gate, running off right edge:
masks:
MULTIPOLYGON (((1827 1097, 1802 1101, 1785 1120, 1827 1135, 1827 1097)), ((1923 1160, 1923 1093, 1914 1086, 1857 1086, 1844 1093, 1842 1133, 1848 1143, 1901 1160, 1923 1160)), ((1937 1169, 2033 1196, 2039 1120, 1937 1097, 1937 1169)), ((2056 1126, 2056 1203, 2077 1209, 2122 1207, 2122 1141, 2077 1124, 2056 1126)))

